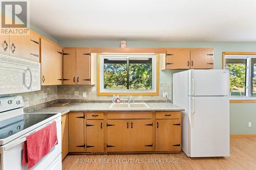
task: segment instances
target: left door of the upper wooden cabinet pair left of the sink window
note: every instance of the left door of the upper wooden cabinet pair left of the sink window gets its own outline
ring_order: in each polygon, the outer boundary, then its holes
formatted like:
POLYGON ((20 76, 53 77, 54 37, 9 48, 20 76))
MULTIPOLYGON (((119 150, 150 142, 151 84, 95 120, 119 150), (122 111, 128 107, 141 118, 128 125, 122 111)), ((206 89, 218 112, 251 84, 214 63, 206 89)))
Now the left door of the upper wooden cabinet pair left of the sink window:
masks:
POLYGON ((76 50, 63 50, 63 84, 76 84, 76 50))

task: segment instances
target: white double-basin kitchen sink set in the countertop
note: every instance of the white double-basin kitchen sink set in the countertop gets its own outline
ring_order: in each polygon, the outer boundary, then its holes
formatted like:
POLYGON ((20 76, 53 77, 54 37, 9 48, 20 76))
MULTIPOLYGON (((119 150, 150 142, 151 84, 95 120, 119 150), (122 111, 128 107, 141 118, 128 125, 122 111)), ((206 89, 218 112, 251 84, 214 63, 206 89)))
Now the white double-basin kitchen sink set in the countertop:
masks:
POLYGON ((146 103, 112 103, 110 109, 149 109, 146 103))

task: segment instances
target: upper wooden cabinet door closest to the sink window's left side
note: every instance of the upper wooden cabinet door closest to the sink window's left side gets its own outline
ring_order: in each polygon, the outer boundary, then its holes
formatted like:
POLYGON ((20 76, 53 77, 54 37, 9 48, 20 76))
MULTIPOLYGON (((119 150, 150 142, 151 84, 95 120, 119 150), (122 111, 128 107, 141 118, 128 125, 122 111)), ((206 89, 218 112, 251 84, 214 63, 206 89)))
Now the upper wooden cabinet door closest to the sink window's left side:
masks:
POLYGON ((89 85, 91 82, 91 56, 90 50, 76 50, 76 84, 89 85))

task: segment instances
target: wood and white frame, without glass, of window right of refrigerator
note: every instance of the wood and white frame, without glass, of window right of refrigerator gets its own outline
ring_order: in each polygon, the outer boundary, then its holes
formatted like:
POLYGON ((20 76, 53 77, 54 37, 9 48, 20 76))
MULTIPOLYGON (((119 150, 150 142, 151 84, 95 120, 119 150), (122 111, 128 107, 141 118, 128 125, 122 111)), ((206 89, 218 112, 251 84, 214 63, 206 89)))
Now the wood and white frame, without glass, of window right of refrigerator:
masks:
POLYGON ((246 74, 245 74, 245 96, 229 96, 230 103, 256 103, 256 97, 250 96, 252 81, 251 81, 251 58, 256 58, 256 53, 244 52, 223 52, 222 68, 225 69, 226 59, 246 59, 246 74))

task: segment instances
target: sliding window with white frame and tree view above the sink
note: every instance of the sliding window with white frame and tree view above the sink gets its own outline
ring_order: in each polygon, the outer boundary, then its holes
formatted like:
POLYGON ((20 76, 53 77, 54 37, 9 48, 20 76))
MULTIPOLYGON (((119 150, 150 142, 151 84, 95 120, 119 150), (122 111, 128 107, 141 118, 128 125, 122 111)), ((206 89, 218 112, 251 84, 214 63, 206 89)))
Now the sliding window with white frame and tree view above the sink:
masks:
POLYGON ((157 55, 101 54, 98 59, 98 92, 157 95, 157 55))

